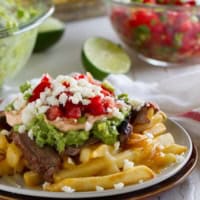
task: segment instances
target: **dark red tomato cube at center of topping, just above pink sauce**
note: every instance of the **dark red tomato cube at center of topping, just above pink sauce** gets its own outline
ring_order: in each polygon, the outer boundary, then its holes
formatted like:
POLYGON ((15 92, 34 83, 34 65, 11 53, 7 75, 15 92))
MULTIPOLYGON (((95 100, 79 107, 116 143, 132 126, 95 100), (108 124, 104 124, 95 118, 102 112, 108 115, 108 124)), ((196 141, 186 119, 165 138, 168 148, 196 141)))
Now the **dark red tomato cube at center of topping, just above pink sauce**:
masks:
POLYGON ((75 105, 68 101, 65 105, 65 117, 78 119, 81 117, 81 105, 75 105))

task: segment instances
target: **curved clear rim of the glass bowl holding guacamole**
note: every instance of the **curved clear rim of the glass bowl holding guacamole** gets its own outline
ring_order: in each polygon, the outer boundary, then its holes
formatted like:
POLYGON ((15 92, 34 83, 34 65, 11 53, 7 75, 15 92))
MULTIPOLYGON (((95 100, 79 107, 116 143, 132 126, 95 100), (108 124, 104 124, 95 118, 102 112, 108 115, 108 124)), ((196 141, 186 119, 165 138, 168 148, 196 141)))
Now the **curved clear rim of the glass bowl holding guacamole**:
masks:
MULTIPOLYGON (((41 0, 37 0, 37 1, 41 1, 41 0)), ((44 10, 44 12, 42 12, 40 15, 35 17, 33 20, 21 25, 15 31, 12 31, 11 29, 6 29, 6 28, 1 29, 0 30, 0 39, 10 37, 10 36, 15 36, 15 35, 24 33, 26 31, 29 31, 31 29, 34 29, 37 26, 39 26, 40 24, 42 24, 42 22, 44 20, 46 20, 48 17, 50 17, 53 14, 54 9, 55 9, 53 2, 52 2, 52 0, 43 0, 43 1, 47 5, 47 9, 44 10)))

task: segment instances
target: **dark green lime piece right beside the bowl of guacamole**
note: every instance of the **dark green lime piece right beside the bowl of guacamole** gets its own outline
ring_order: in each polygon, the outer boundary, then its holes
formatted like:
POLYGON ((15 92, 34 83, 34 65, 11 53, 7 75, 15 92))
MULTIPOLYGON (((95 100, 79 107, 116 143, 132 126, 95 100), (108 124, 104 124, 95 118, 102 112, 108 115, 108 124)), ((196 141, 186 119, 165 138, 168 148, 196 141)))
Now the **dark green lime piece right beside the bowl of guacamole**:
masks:
POLYGON ((34 52, 42 52, 55 45, 65 32, 65 24, 56 18, 48 18, 38 31, 34 52))

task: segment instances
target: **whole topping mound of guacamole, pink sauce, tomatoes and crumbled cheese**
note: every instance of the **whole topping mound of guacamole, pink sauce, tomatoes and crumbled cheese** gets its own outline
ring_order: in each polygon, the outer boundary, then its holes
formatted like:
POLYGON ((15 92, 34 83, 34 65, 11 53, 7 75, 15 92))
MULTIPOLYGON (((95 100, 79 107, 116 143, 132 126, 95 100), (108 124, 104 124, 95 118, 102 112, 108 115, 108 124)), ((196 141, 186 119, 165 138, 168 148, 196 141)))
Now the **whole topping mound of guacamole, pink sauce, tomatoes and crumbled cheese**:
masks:
POLYGON ((20 86, 18 96, 6 107, 7 123, 18 134, 27 133, 40 147, 51 146, 59 153, 98 141, 113 145, 121 134, 132 132, 131 118, 147 106, 116 95, 113 86, 87 74, 44 74, 20 86))

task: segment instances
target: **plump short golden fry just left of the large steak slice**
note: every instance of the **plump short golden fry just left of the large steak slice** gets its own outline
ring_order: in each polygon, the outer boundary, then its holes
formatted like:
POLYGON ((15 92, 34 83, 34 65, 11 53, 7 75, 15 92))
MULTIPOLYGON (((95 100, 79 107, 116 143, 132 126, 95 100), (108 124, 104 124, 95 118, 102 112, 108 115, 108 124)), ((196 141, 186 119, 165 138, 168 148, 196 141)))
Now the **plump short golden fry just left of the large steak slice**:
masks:
POLYGON ((6 152, 6 160, 10 167, 17 168, 21 156, 21 150, 14 143, 8 145, 8 149, 6 152))

